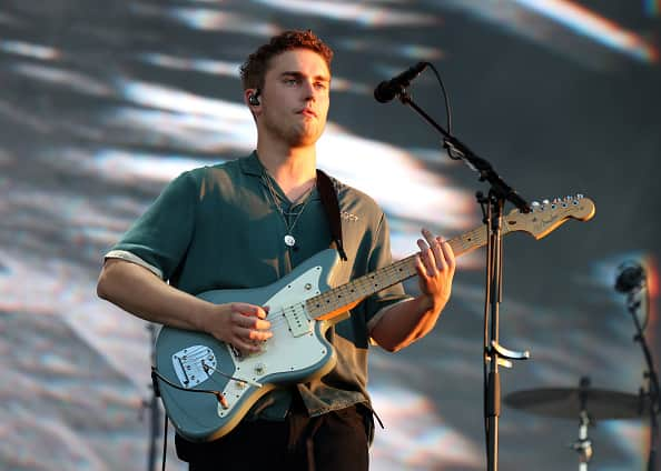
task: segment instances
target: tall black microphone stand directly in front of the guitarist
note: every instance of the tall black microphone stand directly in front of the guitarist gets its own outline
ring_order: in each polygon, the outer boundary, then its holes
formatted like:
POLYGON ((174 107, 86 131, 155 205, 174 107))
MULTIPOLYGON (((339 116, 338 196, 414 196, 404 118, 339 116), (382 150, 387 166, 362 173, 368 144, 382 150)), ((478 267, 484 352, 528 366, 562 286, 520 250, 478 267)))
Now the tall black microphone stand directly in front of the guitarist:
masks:
POLYGON ((480 174, 480 181, 490 183, 489 194, 476 193, 477 202, 484 214, 484 223, 487 228, 486 244, 486 293, 484 301, 485 330, 491 319, 490 339, 484 339, 484 368, 489 363, 489 378, 485 381, 485 427, 487 435, 487 470, 497 470, 499 459, 499 418, 501 414, 501 379, 499 367, 512 368, 509 360, 526 360, 529 351, 517 352, 509 350, 499 343, 500 312, 499 307, 502 300, 502 274, 503 274, 503 234, 502 220, 505 201, 512 202, 521 212, 531 211, 527 202, 521 198, 503 179, 494 171, 493 167, 484 159, 477 157, 466 144, 436 123, 424 110, 422 110, 402 87, 397 97, 402 103, 411 107, 422 116, 434 129, 443 134, 443 147, 447 149, 450 158, 463 160, 473 171, 480 174))

